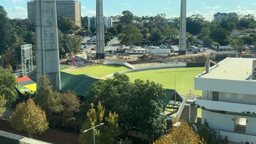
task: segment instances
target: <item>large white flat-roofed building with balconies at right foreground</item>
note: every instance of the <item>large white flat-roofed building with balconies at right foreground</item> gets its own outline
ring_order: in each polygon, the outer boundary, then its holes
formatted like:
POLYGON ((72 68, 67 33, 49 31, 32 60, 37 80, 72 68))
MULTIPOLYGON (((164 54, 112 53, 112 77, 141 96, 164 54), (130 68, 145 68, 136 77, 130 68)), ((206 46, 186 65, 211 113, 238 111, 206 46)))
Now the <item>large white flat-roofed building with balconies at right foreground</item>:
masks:
POLYGON ((195 100, 203 123, 228 136, 229 141, 256 143, 256 59, 226 58, 195 77, 195 100))

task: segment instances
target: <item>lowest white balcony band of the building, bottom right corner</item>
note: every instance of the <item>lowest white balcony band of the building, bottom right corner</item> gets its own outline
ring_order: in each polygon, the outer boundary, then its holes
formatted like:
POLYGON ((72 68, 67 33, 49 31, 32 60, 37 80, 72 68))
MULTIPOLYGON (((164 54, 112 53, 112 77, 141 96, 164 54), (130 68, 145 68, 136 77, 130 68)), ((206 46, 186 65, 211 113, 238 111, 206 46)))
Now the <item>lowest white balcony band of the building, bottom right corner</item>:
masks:
POLYGON ((230 131, 218 130, 222 136, 228 136, 229 141, 232 142, 249 142, 256 143, 256 135, 248 135, 242 133, 235 133, 230 131))

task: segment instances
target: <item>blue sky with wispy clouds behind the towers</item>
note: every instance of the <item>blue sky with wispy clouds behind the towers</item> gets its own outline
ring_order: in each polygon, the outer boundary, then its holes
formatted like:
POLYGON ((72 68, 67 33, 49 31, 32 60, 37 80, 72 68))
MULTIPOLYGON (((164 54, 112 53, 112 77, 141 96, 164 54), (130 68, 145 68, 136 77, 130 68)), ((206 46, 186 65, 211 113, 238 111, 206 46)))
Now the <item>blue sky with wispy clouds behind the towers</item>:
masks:
MULTIPOLYGON (((81 2, 82 16, 94 16, 96 0, 78 0, 81 2)), ((11 19, 26 18, 28 0, 0 0, 11 19)), ((121 15, 130 10, 134 15, 155 16, 165 13, 166 17, 178 17, 180 0, 103 0, 105 16, 121 15)), ((256 0, 187 0, 187 15, 201 14, 206 20, 212 20, 218 12, 235 12, 238 15, 254 14, 256 16, 256 0)))

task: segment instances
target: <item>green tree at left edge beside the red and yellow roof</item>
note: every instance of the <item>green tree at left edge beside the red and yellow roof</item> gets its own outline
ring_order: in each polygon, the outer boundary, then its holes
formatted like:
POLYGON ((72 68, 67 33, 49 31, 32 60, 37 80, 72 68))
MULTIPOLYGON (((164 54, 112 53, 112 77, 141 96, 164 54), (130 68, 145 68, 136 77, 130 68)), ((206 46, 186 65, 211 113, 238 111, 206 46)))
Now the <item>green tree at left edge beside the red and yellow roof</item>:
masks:
POLYGON ((16 83, 15 76, 8 69, 0 66, 0 95, 4 95, 7 100, 7 106, 11 106, 18 96, 15 90, 16 83))

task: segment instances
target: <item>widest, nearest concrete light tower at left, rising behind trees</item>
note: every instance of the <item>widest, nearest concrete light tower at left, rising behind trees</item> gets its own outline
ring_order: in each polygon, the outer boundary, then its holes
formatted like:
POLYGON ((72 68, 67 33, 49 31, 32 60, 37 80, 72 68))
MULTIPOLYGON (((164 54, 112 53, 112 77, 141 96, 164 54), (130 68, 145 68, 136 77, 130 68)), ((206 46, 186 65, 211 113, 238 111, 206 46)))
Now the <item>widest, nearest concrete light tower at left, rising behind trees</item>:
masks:
MULTIPOLYGON (((53 88, 61 89, 56 0, 35 0, 37 82, 46 75, 53 88)), ((37 89, 39 85, 37 85, 37 89)))

